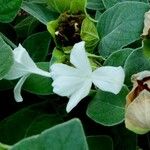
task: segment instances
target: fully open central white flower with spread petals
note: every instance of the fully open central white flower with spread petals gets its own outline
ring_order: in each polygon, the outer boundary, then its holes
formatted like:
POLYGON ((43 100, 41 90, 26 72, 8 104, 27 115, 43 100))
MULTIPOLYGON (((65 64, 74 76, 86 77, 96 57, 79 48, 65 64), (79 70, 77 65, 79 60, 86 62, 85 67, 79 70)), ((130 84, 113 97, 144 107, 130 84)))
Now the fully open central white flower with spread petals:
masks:
POLYGON ((73 67, 61 63, 50 67, 54 93, 70 98, 67 112, 88 95, 92 83, 99 89, 114 94, 119 93, 123 86, 125 75, 122 67, 105 66, 92 72, 84 45, 84 42, 74 45, 70 55, 73 67))

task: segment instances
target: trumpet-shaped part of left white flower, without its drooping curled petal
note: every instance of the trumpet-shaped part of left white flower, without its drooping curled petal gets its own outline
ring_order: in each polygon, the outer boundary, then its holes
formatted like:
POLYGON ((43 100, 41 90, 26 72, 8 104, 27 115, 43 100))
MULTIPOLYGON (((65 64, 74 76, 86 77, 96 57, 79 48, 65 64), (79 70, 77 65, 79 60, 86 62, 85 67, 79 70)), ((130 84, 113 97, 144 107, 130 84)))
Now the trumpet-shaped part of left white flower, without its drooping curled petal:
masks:
POLYGON ((44 71, 36 66, 28 52, 21 46, 21 44, 19 44, 19 46, 14 49, 13 53, 15 61, 8 74, 4 77, 5 79, 17 79, 28 73, 50 77, 49 72, 44 71))

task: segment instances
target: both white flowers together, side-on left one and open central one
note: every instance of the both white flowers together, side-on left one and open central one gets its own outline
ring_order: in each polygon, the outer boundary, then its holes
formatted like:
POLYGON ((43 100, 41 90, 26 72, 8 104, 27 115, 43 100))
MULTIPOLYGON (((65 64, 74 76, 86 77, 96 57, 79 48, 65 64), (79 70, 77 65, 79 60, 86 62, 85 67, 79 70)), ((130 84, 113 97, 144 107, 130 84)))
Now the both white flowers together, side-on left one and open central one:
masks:
POLYGON ((15 62, 5 79, 21 79, 14 88, 14 96, 17 102, 21 102, 20 91, 27 77, 33 73, 45 77, 52 77, 54 93, 69 97, 67 112, 70 112, 91 89, 92 83, 103 91, 118 94, 124 82, 124 70, 122 67, 104 66, 92 71, 92 67, 85 51, 85 42, 74 45, 70 54, 70 62, 66 64, 53 64, 50 73, 39 69, 30 58, 27 51, 19 45, 13 51, 15 62))

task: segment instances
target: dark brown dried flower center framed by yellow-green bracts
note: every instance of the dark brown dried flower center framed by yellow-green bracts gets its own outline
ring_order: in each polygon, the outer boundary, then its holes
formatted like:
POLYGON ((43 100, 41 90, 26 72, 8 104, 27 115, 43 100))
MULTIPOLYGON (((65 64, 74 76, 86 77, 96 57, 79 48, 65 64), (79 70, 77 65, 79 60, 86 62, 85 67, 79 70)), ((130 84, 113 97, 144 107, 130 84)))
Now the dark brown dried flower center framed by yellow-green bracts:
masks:
POLYGON ((61 46, 72 46, 81 41, 80 30, 83 14, 69 14, 65 12, 60 16, 59 27, 56 29, 55 36, 61 46))

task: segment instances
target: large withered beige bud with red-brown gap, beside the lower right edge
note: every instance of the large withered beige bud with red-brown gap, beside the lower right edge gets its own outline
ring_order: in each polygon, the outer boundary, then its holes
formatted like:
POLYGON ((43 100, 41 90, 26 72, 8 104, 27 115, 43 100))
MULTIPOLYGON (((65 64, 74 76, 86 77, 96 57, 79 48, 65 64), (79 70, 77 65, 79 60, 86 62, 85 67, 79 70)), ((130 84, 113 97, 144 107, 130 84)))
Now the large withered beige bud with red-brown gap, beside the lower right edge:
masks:
POLYGON ((137 134, 150 131, 150 71, 131 78, 133 89, 126 97, 125 125, 137 134))

